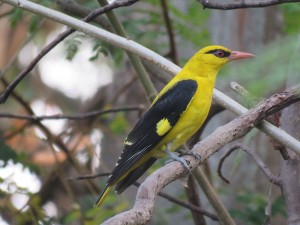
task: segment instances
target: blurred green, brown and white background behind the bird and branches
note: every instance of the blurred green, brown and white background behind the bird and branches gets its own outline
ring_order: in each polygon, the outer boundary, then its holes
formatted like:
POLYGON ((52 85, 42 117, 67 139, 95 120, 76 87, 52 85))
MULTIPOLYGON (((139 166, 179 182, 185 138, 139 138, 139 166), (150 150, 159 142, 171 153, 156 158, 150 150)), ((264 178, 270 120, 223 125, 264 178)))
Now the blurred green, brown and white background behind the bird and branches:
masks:
MULTIPOLYGON (((36 2, 76 18, 99 7, 97 1, 86 0, 36 2)), ((299 78, 299 3, 225 11, 203 9, 197 1, 148 0, 115 12, 131 40, 179 66, 211 44, 256 54, 254 60, 226 66, 216 85, 245 105, 249 106, 248 102, 231 90, 231 81, 260 99, 284 90, 287 80, 299 78)), ((93 24, 113 31, 105 16, 93 24)), ((38 15, 0 4, 1 92, 65 29, 38 15)), ((149 62, 144 65, 157 90, 171 78, 149 62)), ((66 38, 0 105, 0 115, 77 116, 72 120, 41 121, 1 116, 0 224, 99 224, 131 208, 136 187, 120 196, 112 192, 99 209, 93 204, 107 178, 75 178, 109 172, 126 135, 149 105, 123 50, 79 32, 66 38), (109 109, 119 110, 87 115, 109 109)), ((227 110, 214 116, 200 139, 235 117, 227 110)), ((253 130, 238 142, 255 149, 271 171, 279 173, 282 156, 267 136, 253 130)), ((226 184, 216 172, 223 154, 221 150, 213 155, 203 167, 237 224, 262 224, 269 196, 273 202, 272 223, 285 224, 286 210, 279 188, 270 184, 242 151, 233 153, 223 166, 230 180, 226 184)), ((159 160, 149 173, 164 161, 159 160)), ((180 182, 168 185, 164 192, 187 201, 180 182)), ((202 207, 213 212, 201 190, 199 193, 202 207)), ((174 221, 178 225, 194 224, 190 210, 158 198, 149 224, 174 221)), ((206 218, 206 224, 219 223, 206 218)))

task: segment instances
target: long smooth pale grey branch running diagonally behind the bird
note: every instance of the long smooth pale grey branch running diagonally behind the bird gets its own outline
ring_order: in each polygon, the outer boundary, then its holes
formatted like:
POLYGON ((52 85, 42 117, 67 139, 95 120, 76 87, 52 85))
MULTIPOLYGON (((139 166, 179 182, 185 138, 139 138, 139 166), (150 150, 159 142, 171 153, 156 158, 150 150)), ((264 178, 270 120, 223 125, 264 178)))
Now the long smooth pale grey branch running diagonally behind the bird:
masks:
MULTIPOLYGON (((171 63, 170 61, 163 58, 162 56, 154 53, 153 51, 143 47, 142 45, 139 45, 136 42, 119 37, 105 30, 92 26, 88 23, 67 16, 63 13, 57 12, 52 9, 48 9, 36 3, 25 1, 25 0, 20 0, 20 1, 0 0, 0 1, 34 12, 38 15, 45 16, 51 20, 55 20, 59 23, 80 30, 83 33, 86 33, 90 36, 106 41, 107 43, 110 43, 116 47, 126 49, 160 66, 161 68, 163 68, 164 70, 172 74, 177 74, 180 71, 180 68, 175 64, 171 63), (22 4, 18 4, 19 2, 21 2, 22 4)), ((214 89, 214 99, 220 105, 222 105, 226 109, 229 109, 230 111, 238 115, 242 115, 248 111, 247 108, 243 107, 242 105, 240 105, 239 103, 237 103, 236 101, 234 101, 233 99, 231 99, 230 97, 228 97, 227 95, 223 94, 222 92, 216 89, 214 89)), ((288 148, 290 148, 292 151, 300 154, 300 142, 295 138, 293 138, 292 136, 288 135, 286 132, 282 131, 281 129, 273 126, 272 124, 266 121, 263 121, 260 124, 259 129, 265 132, 266 134, 270 135, 274 139, 276 139, 276 141, 278 141, 280 144, 285 145, 288 148)))

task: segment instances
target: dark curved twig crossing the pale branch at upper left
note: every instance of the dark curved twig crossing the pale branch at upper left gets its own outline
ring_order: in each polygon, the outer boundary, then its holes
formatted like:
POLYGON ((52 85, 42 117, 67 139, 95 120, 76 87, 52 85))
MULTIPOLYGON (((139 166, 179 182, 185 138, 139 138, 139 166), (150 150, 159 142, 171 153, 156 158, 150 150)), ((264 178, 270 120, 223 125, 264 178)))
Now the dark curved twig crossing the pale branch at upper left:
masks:
MULTIPOLYGON (((93 10, 89 15, 87 15, 82 21, 90 22, 100 14, 106 13, 112 9, 129 6, 134 4, 139 0, 118 0, 114 1, 113 3, 101 7, 99 9, 93 10)), ((48 53, 50 52, 56 45, 58 45, 60 42, 62 42, 66 37, 68 37, 70 34, 75 32, 76 30, 71 28, 67 29, 66 31, 59 34, 52 42, 50 42, 48 45, 46 45, 40 53, 31 61, 31 63, 15 78, 15 80, 10 83, 4 92, 0 95, 0 104, 4 103, 8 96, 11 94, 11 92, 16 88, 16 86, 29 74, 33 68, 36 66, 36 64, 48 53)))

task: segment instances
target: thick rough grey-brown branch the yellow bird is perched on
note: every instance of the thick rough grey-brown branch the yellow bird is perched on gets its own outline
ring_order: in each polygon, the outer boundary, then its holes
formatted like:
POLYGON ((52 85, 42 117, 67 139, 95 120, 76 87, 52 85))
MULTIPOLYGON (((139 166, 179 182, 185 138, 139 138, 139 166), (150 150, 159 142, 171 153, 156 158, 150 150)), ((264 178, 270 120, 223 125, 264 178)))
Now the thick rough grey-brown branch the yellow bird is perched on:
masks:
MULTIPOLYGON (((199 154, 202 161, 206 160, 227 143, 247 134, 254 127, 254 124, 259 123, 263 116, 268 116, 268 112, 273 111, 272 109, 281 109, 281 107, 277 107, 278 105, 286 107, 288 103, 292 104, 294 101, 291 101, 291 99, 294 99, 295 95, 291 93, 294 93, 294 90, 295 88, 292 88, 264 100, 245 115, 216 129, 206 139, 196 144, 192 151, 199 154)), ((190 161, 190 171, 198 166, 199 161, 197 159, 191 156, 186 156, 185 158, 190 161)), ((185 170, 178 162, 169 163, 160 168, 140 186, 135 204, 131 210, 120 213, 103 224, 145 224, 151 218, 158 192, 167 184, 184 175, 185 170)))

